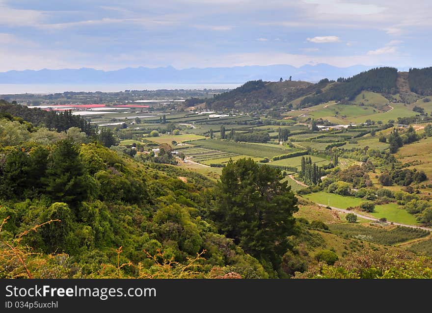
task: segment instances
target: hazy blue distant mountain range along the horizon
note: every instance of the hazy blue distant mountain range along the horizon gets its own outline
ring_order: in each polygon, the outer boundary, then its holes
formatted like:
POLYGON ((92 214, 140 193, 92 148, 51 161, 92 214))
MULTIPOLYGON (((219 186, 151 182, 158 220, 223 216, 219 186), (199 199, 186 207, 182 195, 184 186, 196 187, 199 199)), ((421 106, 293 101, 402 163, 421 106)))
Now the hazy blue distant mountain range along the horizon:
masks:
MULTIPOLYGON (((356 65, 346 68, 328 64, 237 66, 220 68, 189 68, 178 70, 172 66, 158 68, 125 68, 102 71, 91 68, 39 71, 8 71, 0 73, 0 83, 45 84, 45 83, 243 83, 262 79, 277 81, 280 78, 317 82, 322 78, 337 79, 351 77, 371 67, 356 65)), ((399 69, 406 70, 406 69, 399 69)))

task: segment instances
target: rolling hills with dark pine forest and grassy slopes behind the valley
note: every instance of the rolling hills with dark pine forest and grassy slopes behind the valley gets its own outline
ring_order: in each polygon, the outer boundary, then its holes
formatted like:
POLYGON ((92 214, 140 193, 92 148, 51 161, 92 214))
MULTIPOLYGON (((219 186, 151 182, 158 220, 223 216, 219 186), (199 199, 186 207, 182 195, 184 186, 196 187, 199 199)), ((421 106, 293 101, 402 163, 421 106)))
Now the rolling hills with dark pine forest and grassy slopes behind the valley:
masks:
MULTIPOLYGON (((206 105, 211 109, 255 111, 262 109, 301 109, 336 102, 384 108, 390 103, 412 104, 432 93, 432 68, 398 72, 380 67, 337 81, 327 78, 307 81, 253 80, 231 91, 215 95, 206 105)), ((204 102, 204 101, 203 101, 204 102)), ((384 108, 385 110, 390 107, 384 108)))

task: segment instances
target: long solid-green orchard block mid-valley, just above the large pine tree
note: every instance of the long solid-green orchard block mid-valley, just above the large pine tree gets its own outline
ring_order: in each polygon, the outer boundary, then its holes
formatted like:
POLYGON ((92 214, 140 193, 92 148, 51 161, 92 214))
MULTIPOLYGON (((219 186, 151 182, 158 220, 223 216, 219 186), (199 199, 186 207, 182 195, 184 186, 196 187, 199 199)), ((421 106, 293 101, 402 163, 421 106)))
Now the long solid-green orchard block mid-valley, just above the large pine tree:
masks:
POLYGON ((297 151, 296 149, 285 148, 278 145, 261 145, 256 143, 243 143, 223 140, 201 139, 189 142, 192 145, 199 145, 203 148, 226 151, 238 155, 269 157, 279 156, 297 151))

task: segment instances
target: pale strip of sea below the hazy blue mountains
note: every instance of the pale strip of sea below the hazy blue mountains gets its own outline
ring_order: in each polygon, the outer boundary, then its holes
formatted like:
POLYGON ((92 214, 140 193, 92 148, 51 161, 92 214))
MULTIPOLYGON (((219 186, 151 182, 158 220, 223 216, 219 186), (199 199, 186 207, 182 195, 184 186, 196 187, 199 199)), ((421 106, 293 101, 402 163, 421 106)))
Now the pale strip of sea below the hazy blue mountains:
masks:
POLYGON ((243 83, 0 84, 0 95, 75 92, 119 92, 158 89, 234 89, 243 83))

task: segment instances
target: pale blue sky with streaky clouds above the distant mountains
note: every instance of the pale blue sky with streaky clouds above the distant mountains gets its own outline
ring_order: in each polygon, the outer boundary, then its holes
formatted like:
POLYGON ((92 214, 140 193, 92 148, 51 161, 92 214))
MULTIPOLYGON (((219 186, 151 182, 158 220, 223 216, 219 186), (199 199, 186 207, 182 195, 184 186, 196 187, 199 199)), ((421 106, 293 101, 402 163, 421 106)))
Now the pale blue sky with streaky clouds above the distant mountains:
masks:
POLYGON ((429 0, 0 0, 0 72, 431 66, 429 0))

